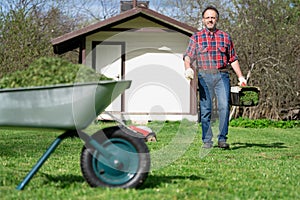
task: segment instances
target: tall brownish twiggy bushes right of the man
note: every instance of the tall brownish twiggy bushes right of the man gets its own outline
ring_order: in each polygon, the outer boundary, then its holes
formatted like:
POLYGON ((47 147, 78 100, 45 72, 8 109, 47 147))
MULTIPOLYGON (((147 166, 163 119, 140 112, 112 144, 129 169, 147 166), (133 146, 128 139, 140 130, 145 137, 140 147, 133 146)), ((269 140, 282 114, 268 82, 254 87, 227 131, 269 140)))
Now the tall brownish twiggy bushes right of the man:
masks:
POLYGON ((260 105, 241 108, 240 114, 250 118, 299 118, 299 11, 285 0, 233 2, 236 12, 230 31, 240 62, 251 71, 249 85, 261 88, 260 105))

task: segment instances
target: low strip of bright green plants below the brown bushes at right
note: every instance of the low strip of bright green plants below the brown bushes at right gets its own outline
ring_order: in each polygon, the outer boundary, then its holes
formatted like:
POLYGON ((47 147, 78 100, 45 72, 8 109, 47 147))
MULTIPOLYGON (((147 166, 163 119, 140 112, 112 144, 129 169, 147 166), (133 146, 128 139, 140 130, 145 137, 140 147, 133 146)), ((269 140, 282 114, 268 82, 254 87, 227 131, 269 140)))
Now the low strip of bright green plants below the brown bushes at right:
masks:
POLYGON ((229 123, 232 127, 244 127, 244 128, 269 128, 269 127, 275 127, 275 128, 295 128, 300 127, 300 121, 275 121, 271 119, 256 119, 251 120, 247 118, 237 118, 233 119, 229 123))

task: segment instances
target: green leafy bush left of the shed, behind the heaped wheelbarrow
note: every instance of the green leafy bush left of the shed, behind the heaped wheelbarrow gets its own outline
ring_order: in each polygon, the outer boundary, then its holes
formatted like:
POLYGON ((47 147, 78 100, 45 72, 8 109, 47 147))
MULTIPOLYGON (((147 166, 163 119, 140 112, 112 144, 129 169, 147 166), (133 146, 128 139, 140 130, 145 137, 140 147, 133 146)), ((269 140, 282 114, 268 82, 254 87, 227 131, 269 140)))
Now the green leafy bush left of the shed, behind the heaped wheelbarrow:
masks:
POLYGON ((26 68, 39 55, 51 54, 50 39, 24 8, 10 10, 0 23, 0 77, 26 68))

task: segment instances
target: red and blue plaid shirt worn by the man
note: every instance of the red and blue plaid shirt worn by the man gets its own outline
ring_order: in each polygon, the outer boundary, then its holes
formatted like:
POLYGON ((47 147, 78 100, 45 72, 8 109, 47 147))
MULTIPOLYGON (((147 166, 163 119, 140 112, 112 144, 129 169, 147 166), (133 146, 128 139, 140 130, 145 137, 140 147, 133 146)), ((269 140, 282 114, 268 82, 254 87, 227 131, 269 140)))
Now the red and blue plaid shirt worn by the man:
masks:
POLYGON ((222 69, 238 59, 228 33, 216 29, 211 34, 206 28, 190 37, 185 56, 202 70, 222 69))

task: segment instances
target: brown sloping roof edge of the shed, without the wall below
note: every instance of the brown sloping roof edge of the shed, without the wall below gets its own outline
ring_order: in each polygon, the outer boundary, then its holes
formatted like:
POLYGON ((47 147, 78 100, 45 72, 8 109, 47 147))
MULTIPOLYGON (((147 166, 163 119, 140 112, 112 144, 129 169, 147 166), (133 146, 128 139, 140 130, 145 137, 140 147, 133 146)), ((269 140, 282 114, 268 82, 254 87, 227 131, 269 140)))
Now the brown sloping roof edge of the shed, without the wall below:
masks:
POLYGON ((131 10, 123 12, 117 16, 111 17, 107 20, 97 22, 95 24, 86 26, 82 29, 67 33, 60 37, 54 38, 51 42, 54 48, 54 52, 61 54, 66 51, 70 51, 79 47, 82 42, 82 39, 86 36, 99 32, 105 28, 115 26, 117 24, 126 22, 128 19, 133 19, 136 17, 145 17, 151 21, 155 21, 168 29, 181 32, 185 35, 192 35, 197 31, 196 28, 191 27, 187 24, 181 23, 177 20, 174 20, 170 17, 162 15, 158 12, 155 12, 151 9, 144 7, 135 7, 131 10))

